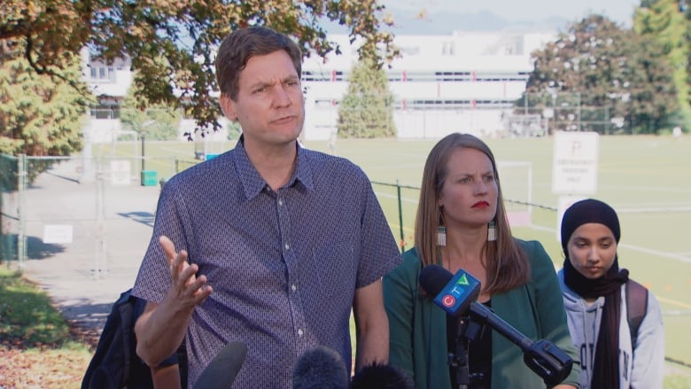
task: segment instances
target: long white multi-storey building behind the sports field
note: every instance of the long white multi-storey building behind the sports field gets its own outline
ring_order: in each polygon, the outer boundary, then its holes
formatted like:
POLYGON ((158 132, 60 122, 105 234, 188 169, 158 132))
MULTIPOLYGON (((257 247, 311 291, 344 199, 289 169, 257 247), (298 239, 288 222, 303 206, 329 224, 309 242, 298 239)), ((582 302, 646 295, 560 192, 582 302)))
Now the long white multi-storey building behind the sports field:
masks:
MULTIPOLYGON (((396 35, 401 57, 385 71, 395 96, 394 123, 399 138, 439 138, 454 131, 494 135, 525 89, 532 72, 531 52, 555 39, 555 32, 455 32, 453 35, 396 35)), ((347 35, 329 37, 340 55, 306 58, 304 138, 329 139, 336 131, 338 102, 345 95, 357 48, 347 35)), ((89 64, 89 61, 85 63, 89 64)), ((103 101, 92 113, 94 141, 120 130, 117 107, 132 74, 129 61, 105 66, 91 62, 85 74, 103 101)), ((186 122, 183 126, 190 127, 186 122)), ((182 134, 181 130, 181 134, 182 134)))

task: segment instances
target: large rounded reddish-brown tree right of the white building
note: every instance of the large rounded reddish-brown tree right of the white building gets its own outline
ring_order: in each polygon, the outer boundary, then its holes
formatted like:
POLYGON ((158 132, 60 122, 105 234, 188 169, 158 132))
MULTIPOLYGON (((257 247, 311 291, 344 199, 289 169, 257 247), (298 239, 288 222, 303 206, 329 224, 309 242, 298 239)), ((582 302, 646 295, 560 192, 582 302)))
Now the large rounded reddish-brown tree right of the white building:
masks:
POLYGON ((544 93, 535 104, 554 109, 555 121, 563 123, 558 129, 609 132, 610 119, 619 119, 632 133, 657 133, 677 107, 662 47, 602 15, 571 24, 532 55, 535 68, 524 98, 544 93), (555 104, 562 95, 578 96, 578 107, 555 104), (598 117, 588 117, 593 114, 598 117))

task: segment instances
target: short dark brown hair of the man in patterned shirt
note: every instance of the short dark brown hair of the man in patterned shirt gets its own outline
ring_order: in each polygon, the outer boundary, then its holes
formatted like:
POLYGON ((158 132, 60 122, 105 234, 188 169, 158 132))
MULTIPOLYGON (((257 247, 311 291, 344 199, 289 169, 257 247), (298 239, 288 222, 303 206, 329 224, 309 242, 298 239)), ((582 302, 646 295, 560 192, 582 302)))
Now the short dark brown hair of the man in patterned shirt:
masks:
POLYGON ((268 27, 240 28, 223 39, 216 56, 216 80, 221 96, 237 99, 237 81, 247 61, 260 55, 283 50, 292 59, 298 77, 302 74, 302 53, 290 37, 268 27))

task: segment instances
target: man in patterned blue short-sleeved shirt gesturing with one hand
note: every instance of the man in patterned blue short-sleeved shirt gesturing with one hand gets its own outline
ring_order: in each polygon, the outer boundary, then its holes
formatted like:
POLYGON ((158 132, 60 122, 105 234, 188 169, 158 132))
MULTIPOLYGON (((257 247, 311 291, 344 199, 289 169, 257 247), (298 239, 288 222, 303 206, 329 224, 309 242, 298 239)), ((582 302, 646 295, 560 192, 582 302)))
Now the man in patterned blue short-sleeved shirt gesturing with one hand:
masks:
POLYGON ((235 149, 190 167, 161 191, 133 294, 147 300, 137 354, 150 366, 186 339, 189 385, 230 341, 248 348, 234 387, 290 387, 314 346, 360 366, 387 362, 381 278, 400 262, 367 176, 302 148, 299 47, 267 27, 221 43, 216 75, 235 149))

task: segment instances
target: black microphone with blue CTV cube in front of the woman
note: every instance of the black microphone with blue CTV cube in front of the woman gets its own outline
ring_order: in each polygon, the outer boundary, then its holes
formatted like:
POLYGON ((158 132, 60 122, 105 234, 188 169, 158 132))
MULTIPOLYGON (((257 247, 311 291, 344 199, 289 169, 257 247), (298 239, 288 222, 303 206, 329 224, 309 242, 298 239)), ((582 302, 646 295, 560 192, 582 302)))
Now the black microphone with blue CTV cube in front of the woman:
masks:
POLYGON ((559 384, 571 373, 573 361, 562 349, 545 339, 532 341, 491 309, 477 303, 480 282, 470 273, 461 269, 452 275, 439 265, 427 265, 420 272, 419 281, 424 292, 434 296, 434 303, 448 315, 470 315, 519 346, 524 352, 525 364, 547 385, 559 384))

